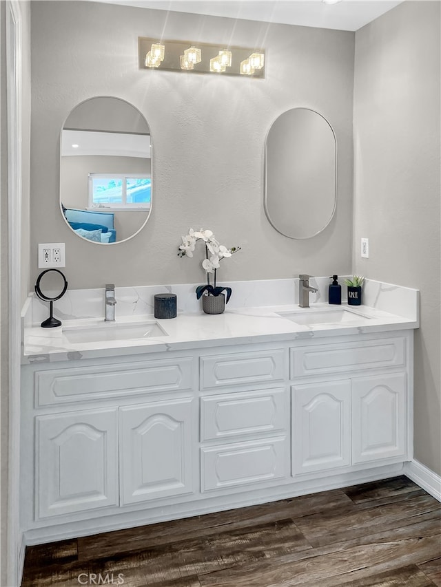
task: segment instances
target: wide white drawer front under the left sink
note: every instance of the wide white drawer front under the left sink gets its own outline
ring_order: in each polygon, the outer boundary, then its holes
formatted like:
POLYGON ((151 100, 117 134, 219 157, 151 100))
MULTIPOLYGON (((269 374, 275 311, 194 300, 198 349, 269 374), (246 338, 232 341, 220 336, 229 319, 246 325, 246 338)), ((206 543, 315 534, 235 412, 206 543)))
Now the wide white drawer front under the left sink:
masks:
POLYGON ((60 405, 110 398, 127 392, 138 395, 191 387, 191 357, 37 371, 35 405, 60 405))

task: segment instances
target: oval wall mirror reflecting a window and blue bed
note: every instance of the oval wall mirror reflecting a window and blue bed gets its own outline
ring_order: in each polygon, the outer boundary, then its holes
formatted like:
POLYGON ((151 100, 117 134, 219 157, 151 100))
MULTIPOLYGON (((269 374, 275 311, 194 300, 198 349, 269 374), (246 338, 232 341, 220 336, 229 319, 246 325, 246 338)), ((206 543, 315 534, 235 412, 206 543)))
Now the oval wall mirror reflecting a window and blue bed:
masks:
POLYGON ((150 128, 111 96, 77 105, 60 139, 60 207, 83 239, 114 244, 141 231, 152 211, 150 128))

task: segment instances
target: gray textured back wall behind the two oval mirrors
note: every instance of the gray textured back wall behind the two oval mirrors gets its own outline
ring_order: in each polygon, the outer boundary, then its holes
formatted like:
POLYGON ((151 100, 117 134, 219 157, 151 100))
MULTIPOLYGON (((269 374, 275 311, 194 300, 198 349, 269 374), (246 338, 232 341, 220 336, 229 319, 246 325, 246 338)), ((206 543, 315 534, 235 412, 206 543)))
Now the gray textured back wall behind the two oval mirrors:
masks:
POLYGON ((32 282, 37 243, 65 242, 72 288, 194 283, 196 259, 176 255, 190 227, 243 247, 218 279, 348 273, 352 238, 354 34, 71 1, 32 2, 32 282), (103 25, 105 23, 105 25, 103 25), (267 50, 265 80, 139 70, 138 36, 267 50), (97 246, 70 233, 59 212, 59 134, 71 109, 116 96, 147 119, 154 206, 134 239, 97 246), (271 123, 316 109, 338 140, 338 206, 326 230, 295 241, 263 209, 263 146, 271 123), (130 263, 127 263, 130 259, 130 263))

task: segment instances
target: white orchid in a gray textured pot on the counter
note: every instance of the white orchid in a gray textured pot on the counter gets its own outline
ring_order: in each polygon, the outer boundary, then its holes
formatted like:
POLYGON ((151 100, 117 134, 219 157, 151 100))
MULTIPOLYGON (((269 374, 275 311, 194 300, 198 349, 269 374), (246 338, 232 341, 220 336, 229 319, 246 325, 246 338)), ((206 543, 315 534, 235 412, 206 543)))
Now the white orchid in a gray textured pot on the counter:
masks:
POLYGON ((228 303, 232 295, 232 288, 216 286, 216 270, 220 267, 220 259, 227 259, 233 253, 240 250, 240 246, 227 248, 219 244, 212 231, 194 231, 189 229, 189 233, 182 237, 182 244, 179 246, 178 257, 193 257, 193 251, 196 248, 196 242, 202 241, 205 245, 205 259, 202 267, 207 273, 207 284, 196 288, 196 297, 202 297, 202 308, 205 314, 222 314, 225 310, 225 304, 228 303), (210 284, 210 275, 213 275, 213 284, 210 284), (225 294, 227 298, 225 299, 225 294))

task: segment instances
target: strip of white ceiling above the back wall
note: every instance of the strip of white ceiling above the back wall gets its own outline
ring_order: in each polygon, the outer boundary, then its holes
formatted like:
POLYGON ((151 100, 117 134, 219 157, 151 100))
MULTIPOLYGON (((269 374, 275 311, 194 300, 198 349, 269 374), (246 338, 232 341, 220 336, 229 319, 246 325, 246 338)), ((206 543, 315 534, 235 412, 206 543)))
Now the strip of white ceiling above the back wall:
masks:
POLYGON ((338 30, 358 30, 384 12, 400 4, 387 0, 342 0, 325 4, 322 0, 99 0, 115 4, 192 12, 215 17, 229 17, 285 23, 338 30))

